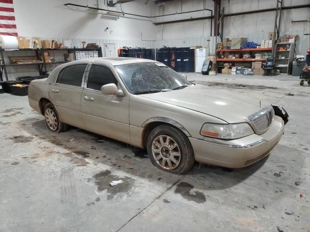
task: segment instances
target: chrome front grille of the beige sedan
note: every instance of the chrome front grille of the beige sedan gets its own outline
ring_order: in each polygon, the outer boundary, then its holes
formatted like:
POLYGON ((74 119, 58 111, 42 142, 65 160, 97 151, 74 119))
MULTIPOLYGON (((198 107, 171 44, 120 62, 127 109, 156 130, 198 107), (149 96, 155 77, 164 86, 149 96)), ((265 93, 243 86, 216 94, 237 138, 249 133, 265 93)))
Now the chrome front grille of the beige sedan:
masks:
POLYGON ((253 123, 255 130, 258 133, 265 132, 272 123, 275 112, 272 106, 267 106, 253 115, 248 116, 248 119, 253 123))

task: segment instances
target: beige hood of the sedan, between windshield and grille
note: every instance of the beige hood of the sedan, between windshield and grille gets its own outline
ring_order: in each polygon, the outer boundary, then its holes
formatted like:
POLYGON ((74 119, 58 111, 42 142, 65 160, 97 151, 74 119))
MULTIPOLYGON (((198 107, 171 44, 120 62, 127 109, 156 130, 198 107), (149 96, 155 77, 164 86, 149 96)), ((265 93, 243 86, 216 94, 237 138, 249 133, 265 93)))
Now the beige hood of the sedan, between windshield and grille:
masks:
POLYGON ((258 99, 234 93, 229 89, 198 84, 184 89, 140 96, 215 116, 228 123, 248 121, 248 116, 260 110, 258 99))

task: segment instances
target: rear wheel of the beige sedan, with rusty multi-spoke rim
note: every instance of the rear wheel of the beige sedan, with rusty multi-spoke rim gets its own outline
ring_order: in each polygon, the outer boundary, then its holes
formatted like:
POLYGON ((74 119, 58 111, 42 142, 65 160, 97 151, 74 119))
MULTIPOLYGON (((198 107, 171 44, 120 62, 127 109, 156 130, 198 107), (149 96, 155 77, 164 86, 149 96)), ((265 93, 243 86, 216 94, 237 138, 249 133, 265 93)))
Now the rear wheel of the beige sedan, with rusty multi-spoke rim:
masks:
POLYGON ((54 132, 61 132, 61 131, 65 131, 68 129, 68 125, 65 123, 62 123, 59 120, 59 116, 55 109, 55 106, 51 102, 48 102, 45 105, 44 117, 45 117, 45 122, 47 123, 47 128, 49 130, 54 131, 54 132))

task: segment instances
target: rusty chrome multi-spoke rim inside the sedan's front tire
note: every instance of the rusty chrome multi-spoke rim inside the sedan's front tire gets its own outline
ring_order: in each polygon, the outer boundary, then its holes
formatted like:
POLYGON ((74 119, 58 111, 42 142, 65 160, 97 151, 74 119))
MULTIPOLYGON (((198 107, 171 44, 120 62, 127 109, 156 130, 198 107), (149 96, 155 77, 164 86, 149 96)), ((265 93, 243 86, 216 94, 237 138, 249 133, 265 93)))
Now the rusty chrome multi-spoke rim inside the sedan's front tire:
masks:
POLYGON ((180 148, 168 135, 159 135, 154 139, 152 155, 160 167, 168 170, 175 169, 181 161, 180 148))

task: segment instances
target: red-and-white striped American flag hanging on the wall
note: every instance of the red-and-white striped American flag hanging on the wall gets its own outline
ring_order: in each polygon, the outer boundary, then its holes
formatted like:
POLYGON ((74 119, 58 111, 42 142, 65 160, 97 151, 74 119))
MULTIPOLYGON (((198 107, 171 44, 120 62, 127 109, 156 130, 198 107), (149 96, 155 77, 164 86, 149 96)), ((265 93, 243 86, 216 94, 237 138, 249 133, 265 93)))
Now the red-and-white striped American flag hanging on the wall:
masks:
POLYGON ((0 0, 0 35, 18 36, 13 0, 0 0))

